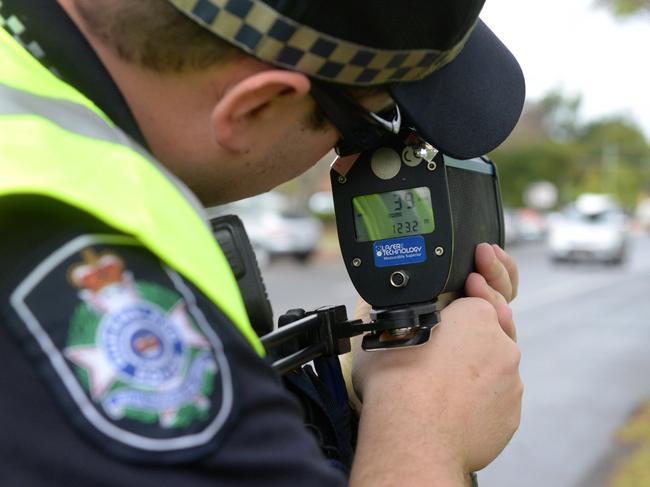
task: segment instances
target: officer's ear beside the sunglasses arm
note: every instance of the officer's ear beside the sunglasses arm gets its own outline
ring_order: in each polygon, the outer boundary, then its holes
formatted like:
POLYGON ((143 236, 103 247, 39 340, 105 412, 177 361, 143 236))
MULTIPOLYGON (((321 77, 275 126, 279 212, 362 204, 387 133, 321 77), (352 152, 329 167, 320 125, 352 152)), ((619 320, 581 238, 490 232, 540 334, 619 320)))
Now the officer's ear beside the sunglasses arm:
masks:
POLYGON ((217 141, 237 153, 277 142, 303 114, 309 87, 304 74, 280 69, 257 72, 231 85, 212 112, 217 141))

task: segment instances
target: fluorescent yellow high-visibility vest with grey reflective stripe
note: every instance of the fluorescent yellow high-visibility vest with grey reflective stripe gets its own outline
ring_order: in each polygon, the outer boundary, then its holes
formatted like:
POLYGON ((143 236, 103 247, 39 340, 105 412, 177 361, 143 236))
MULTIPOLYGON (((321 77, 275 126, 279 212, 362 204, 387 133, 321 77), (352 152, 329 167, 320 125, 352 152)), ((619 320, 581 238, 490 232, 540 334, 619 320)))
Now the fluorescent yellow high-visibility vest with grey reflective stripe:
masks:
POLYGON ((264 348, 223 252, 193 196, 74 87, 0 28, 2 197, 47 196, 132 235, 264 348))

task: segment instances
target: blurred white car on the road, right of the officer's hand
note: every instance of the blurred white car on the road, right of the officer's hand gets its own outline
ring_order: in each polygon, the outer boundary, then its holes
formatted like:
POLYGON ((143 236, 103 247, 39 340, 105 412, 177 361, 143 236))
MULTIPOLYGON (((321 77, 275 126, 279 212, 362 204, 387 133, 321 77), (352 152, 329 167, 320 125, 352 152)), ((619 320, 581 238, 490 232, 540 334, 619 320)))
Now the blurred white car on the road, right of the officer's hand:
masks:
POLYGON ((626 216, 610 196, 584 194, 550 220, 548 244, 554 261, 621 264, 627 248, 626 216))

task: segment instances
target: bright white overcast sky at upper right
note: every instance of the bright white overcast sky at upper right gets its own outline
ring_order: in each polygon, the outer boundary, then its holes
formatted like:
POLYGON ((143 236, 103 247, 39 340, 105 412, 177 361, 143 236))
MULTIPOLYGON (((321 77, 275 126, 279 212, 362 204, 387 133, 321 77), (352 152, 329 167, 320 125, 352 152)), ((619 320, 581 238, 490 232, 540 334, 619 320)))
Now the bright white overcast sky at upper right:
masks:
POLYGON ((616 19, 596 0, 487 0, 481 18, 515 55, 527 99, 582 95, 582 121, 624 115, 650 139, 650 15, 616 19))

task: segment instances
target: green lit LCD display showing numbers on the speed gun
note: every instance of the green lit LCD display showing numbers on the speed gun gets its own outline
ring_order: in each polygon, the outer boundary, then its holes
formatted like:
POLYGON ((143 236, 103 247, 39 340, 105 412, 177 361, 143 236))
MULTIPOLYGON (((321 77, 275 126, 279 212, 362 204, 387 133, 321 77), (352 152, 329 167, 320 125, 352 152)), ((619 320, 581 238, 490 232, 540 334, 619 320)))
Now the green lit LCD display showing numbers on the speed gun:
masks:
POLYGON ((424 235, 435 229, 427 187, 357 196, 352 205, 358 242, 424 235))

